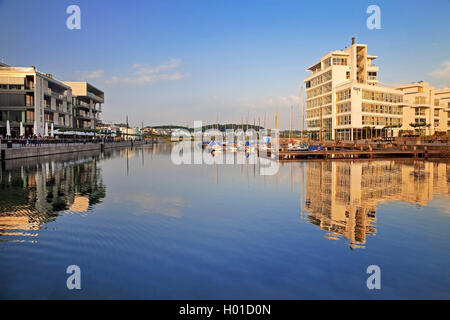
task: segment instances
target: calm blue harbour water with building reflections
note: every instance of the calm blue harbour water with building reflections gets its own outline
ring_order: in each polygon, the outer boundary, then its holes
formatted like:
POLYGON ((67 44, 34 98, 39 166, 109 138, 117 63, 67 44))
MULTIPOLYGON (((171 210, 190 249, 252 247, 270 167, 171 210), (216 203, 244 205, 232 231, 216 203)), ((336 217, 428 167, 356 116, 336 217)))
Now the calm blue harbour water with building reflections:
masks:
POLYGON ((174 165, 170 145, 0 171, 0 298, 450 298, 450 163, 174 165), (66 269, 81 268, 81 290, 66 269), (381 290, 368 290, 369 265, 381 290))

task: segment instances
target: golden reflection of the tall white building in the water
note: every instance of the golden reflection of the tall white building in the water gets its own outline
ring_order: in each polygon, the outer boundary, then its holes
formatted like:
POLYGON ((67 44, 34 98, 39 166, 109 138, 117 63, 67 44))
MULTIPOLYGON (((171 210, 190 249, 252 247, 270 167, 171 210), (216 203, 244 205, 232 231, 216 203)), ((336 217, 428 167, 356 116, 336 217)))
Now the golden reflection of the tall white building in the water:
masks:
POLYGON ((426 205, 448 196, 449 164, 437 162, 313 162, 307 165, 306 210, 328 239, 361 248, 376 234, 376 207, 397 200, 426 205))

